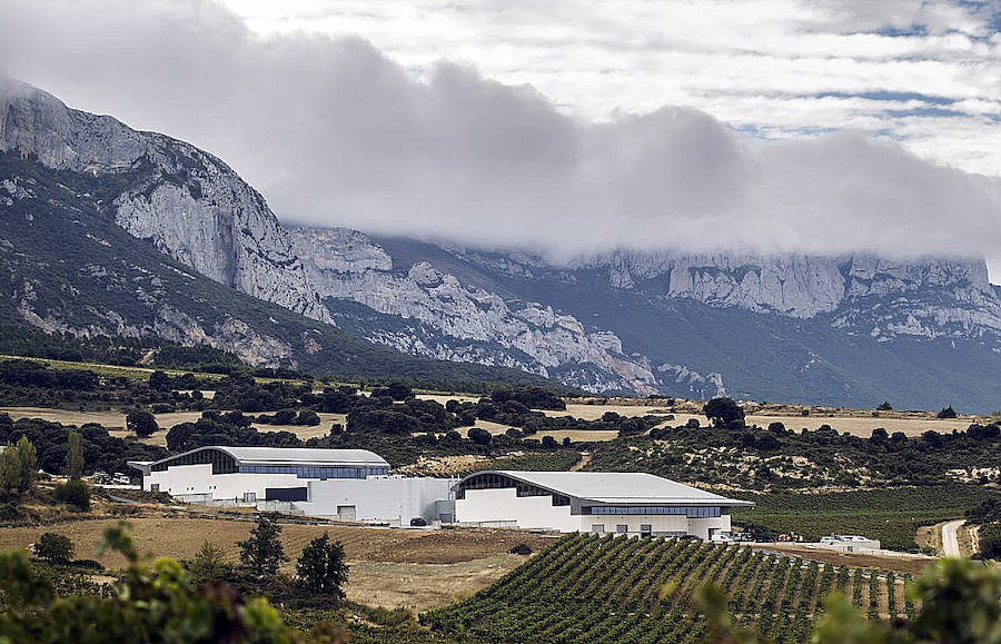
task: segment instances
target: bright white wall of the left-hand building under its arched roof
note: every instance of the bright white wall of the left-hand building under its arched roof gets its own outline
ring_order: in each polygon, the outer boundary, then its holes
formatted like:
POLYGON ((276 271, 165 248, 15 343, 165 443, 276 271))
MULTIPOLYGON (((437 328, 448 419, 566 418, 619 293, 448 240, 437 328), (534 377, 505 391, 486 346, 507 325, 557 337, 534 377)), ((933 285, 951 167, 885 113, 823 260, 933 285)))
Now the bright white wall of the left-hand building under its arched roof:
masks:
POLYGON ((218 474, 212 476, 211 464, 177 465, 163 472, 150 472, 142 477, 142 489, 160 484, 160 492, 178 496, 210 494, 212 501, 244 498, 252 492, 264 501, 268 487, 306 487, 307 479, 295 474, 218 474))

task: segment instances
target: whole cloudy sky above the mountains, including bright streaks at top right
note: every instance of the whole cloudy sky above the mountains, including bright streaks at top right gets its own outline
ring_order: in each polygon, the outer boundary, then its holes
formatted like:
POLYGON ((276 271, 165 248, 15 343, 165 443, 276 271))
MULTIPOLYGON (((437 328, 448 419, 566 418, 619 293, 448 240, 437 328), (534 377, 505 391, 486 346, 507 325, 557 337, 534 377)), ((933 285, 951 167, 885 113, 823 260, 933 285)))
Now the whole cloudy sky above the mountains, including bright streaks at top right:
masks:
POLYGON ((0 0, 0 68, 285 220, 533 245, 982 254, 1001 3, 0 0))

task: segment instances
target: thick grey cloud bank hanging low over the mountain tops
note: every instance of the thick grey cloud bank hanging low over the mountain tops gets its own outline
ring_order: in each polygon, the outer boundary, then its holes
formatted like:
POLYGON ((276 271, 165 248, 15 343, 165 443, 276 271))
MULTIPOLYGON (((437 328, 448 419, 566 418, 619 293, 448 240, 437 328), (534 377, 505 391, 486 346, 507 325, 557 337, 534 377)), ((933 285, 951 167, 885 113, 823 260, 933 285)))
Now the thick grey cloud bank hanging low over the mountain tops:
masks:
POLYGON ((212 150, 287 221, 563 257, 992 259, 1001 242, 997 178, 859 133, 765 141, 671 106, 584 121, 467 67, 417 77, 361 39, 262 38, 197 0, 3 0, 0 13, 8 73, 212 150))

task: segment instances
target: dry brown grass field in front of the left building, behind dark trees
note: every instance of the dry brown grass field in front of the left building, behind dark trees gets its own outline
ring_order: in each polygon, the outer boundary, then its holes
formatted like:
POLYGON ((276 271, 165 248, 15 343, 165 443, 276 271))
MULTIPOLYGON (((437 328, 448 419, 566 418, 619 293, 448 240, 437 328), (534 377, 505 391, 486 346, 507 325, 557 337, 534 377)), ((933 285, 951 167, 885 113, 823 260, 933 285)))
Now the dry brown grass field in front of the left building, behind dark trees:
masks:
MULTIPOLYGON (((43 532, 70 537, 77 556, 97 558, 110 568, 125 561, 113 554, 97 555, 97 544, 111 519, 88 519, 43 527, 0 528, 0 549, 26 547, 43 532)), ((222 547, 236 561, 237 542, 247 538, 250 521, 186 516, 146 516, 130 518, 140 553, 190 558, 202 542, 222 547)), ((533 549, 545 547, 552 537, 512 531, 409 531, 338 525, 296 525, 283 527, 281 541, 291 562, 303 547, 324 532, 340 541, 351 565, 348 598, 393 608, 406 606, 426 611, 468 596, 492 584, 525 561, 507 554, 521 543, 533 549)))

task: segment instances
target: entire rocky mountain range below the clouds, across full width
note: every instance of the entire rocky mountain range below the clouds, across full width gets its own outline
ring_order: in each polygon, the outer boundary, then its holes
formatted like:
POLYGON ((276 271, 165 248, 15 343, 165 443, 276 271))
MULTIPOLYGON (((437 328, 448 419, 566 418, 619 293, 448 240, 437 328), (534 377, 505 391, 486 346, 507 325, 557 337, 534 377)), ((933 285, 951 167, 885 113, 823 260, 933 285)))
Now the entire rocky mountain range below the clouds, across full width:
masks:
POLYGON ((10 324, 328 374, 1001 406, 1001 293, 975 258, 557 260, 284 225, 212 155, 13 80, 0 81, 0 212, 10 324))

